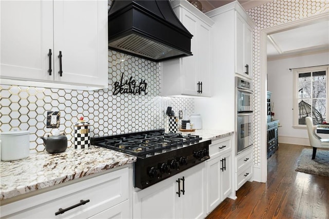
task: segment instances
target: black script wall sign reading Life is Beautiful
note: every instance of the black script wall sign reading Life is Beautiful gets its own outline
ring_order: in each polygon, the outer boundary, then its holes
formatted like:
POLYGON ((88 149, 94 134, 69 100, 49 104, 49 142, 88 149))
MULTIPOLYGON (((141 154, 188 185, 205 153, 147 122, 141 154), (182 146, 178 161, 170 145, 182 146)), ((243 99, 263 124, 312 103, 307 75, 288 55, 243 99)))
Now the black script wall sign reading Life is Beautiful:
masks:
POLYGON ((147 95, 148 83, 145 79, 141 79, 138 83, 133 77, 127 80, 123 79, 123 73, 121 74, 120 82, 114 82, 114 92, 113 95, 118 94, 134 94, 134 95, 147 95))

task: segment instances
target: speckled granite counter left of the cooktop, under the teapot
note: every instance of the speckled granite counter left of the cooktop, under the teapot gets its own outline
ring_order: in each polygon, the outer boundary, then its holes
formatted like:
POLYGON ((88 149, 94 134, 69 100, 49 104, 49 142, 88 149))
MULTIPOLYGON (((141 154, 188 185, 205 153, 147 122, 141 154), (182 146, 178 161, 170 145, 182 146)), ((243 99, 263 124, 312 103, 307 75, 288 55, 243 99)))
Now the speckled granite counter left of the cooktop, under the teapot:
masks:
POLYGON ((33 153, 22 160, 1 161, 0 200, 135 161, 134 156, 94 146, 86 150, 68 148, 58 154, 33 153))

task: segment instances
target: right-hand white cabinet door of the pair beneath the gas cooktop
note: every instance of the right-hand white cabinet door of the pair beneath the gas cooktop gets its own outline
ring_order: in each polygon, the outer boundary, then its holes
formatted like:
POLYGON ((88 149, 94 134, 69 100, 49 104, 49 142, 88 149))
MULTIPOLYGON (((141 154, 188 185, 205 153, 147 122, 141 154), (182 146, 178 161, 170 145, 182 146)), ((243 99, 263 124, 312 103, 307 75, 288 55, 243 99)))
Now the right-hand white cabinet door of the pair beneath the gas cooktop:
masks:
MULTIPOLYGON (((179 218, 204 218, 205 211, 205 165, 206 163, 199 163, 180 174, 180 178, 184 176, 184 195, 179 199, 180 214, 179 218)), ((181 187, 182 189, 182 187, 181 187)))

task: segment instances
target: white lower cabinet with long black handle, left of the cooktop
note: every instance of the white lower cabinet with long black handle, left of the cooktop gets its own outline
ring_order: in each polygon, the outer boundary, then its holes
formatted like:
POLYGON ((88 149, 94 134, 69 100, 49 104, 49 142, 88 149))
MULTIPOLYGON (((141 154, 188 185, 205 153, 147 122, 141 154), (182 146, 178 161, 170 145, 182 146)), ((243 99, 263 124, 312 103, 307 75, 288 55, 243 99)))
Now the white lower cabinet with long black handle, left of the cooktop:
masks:
POLYGON ((131 168, 122 168, 1 206, 2 218, 131 217, 131 168), (56 215, 80 202, 84 205, 56 215))

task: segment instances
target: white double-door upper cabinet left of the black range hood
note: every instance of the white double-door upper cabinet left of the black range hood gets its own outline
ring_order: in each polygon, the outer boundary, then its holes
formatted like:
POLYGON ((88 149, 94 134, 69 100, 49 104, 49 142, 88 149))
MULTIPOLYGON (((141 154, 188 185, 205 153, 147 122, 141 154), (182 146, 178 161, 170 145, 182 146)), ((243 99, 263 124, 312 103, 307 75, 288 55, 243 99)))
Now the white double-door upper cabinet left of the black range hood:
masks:
POLYGON ((107 1, 0 4, 2 83, 107 87, 107 1))

